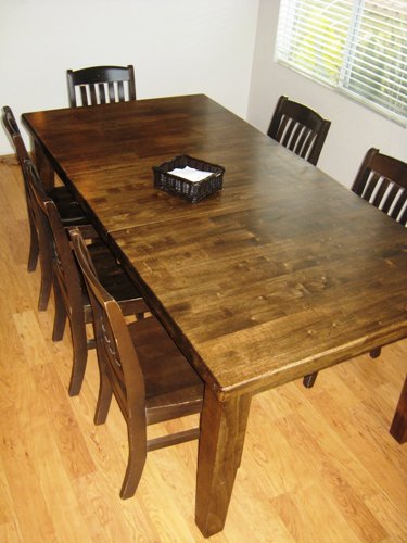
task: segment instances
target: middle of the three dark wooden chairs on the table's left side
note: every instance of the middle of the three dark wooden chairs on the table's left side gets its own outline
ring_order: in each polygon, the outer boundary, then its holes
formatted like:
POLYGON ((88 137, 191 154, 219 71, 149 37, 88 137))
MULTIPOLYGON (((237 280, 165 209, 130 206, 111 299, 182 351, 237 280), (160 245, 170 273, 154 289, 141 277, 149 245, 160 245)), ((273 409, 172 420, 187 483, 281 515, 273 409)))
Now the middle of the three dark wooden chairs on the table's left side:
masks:
MULTIPOLYGON (((35 220, 43 254, 50 260, 55 298, 55 315, 52 340, 64 336, 66 319, 69 319, 73 343, 73 365, 68 387, 69 395, 77 395, 85 376, 88 350, 96 346, 94 339, 87 338, 86 325, 92 321, 87 290, 81 280, 66 228, 61 222, 55 203, 49 198, 30 161, 25 162, 28 190, 33 200, 35 220)), ((81 226, 89 242, 89 252, 104 288, 119 301, 124 313, 142 317, 149 311, 141 295, 109 248, 90 226, 81 226)))

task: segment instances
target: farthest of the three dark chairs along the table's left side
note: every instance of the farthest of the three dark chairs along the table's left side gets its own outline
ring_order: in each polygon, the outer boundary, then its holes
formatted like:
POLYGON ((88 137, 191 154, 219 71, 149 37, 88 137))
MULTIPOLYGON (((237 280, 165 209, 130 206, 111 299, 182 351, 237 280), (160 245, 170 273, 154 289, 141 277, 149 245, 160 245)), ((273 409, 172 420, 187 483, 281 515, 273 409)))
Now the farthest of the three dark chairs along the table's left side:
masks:
MULTIPOLYGON (((39 294, 38 308, 39 311, 47 310, 49 295, 51 291, 51 276, 47 270, 47 255, 40 256, 40 243, 38 239, 37 226, 33 213, 33 204, 28 192, 26 171, 24 168, 25 161, 29 160, 27 149, 24 144, 21 131, 18 129, 15 116, 8 105, 2 109, 2 123, 13 146, 14 153, 21 165, 25 201, 27 205, 28 225, 29 225, 29 253, 28 253, 28 272, 34 272, 37 268, 38 260, 41 261, 41 288, 39 294)), ((84 210, 74 199, 71 192, 64 186, 55 187, 49 192, 49 197, 55 202, 55 205, 61 215, 63 225, 81 225, 89 223, 84 210)))

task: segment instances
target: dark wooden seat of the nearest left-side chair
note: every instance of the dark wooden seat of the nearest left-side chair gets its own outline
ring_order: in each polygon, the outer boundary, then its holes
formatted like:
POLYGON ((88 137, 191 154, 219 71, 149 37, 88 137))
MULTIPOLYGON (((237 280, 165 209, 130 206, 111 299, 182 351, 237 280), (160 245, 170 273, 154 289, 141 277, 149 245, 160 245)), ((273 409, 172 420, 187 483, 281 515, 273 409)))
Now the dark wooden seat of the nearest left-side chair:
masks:
POLYGON ((203 383, 160 321, 148 317, 128 328, 144 376, 148 424, 199 413, 203 383))

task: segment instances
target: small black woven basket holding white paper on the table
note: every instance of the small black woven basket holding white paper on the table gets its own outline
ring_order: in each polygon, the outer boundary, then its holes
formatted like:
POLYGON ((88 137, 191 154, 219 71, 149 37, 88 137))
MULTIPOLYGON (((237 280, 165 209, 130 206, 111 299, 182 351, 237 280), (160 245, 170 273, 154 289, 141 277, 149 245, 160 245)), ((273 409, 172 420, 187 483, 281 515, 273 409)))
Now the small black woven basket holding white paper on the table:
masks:
POLYGON ((153 166, 153 172, 154 187, 180 195, 192 203, 196 203, 221 190, 224 185, 224 167, 188 155, 176 156, 173 161, 164 162, 161 166, 153 166), (171 169, 183 168, 186 166, 203 172, 211 172, 212 175, 202 179, 202 181, 193 182, 177 175, 168 174, 171 169))

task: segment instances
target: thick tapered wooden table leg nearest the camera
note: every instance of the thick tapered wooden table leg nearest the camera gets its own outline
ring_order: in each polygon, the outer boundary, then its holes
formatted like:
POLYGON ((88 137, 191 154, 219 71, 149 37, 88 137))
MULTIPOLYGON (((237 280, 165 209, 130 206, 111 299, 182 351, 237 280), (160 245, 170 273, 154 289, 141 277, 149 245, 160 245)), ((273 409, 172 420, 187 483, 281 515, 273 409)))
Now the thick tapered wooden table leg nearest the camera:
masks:
POLYGON ((222 530, 243 452, 251 395, 219 402, 206 387, 198 454, 195 521, 205 538, 222 530))

